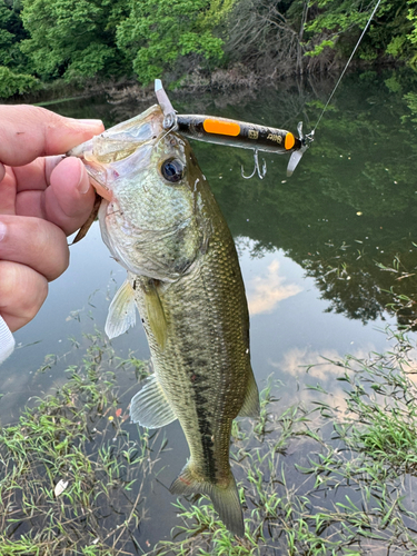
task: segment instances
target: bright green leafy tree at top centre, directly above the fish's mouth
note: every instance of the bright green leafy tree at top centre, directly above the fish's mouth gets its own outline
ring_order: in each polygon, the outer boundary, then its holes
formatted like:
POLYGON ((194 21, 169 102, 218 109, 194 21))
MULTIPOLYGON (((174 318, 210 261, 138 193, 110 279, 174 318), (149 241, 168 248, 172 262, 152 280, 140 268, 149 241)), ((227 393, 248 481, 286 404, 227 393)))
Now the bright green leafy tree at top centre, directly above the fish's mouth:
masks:
POLYGON ((212 32, 221 9, 219 2, 211 6, 208 0, 130 0, 129 17, 118 26, 118 47, 142 83, 172 70, 190 54, 218 62, 222 40, 212 32))

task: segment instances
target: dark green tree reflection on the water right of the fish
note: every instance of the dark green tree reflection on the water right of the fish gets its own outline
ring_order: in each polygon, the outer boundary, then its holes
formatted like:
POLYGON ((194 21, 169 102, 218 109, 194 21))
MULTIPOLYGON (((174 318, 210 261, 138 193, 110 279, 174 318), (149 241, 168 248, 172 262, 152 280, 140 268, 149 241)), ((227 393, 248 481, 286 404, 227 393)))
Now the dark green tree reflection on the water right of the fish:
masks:
MULTIPOLYGON (((398 256, 404 271, 415 268, 417 159, 404 95, 393 93, 384 77, 371 78, 347 78, 288 180, 287 159, 267 156, 266 178, 247 183, 237 169, 250 155, 219 150, 212 165, 210 147, 195 145, 234 234, 249 236, 256 252, 282 249, 315 279, 329 311, 363 322, 383 317, 391 286, 409 296, 417 287, 415 277, 398 285, 400 275, 377 266, 398 256)), ((265 92, 268 108, 272 95, 265 92)), ((281 125, 274 110, 267 115, 259 102, 257 109, 249 113, 258 121, 281 125)), ((316 105, 306 110, 314 120, 316 105)))

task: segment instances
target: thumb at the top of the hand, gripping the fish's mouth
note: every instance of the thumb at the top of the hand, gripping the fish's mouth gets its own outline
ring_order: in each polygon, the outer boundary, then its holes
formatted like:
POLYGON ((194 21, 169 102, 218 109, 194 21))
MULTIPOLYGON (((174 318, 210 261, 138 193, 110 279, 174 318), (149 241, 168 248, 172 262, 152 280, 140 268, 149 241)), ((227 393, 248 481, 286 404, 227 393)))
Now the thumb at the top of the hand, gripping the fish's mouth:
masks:
POLYGON ((29 105, 0 106, 0 161, 8 166, 63 155, 103 131, 100 120, 75 120, 29 105))

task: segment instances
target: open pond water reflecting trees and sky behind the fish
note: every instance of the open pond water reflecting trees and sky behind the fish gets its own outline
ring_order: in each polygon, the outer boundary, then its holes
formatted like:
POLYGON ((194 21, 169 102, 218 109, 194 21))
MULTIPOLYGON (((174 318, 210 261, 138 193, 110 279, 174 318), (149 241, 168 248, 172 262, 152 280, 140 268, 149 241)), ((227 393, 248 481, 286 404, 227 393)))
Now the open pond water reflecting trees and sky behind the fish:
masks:
MULTIPOLYGON (((416 291, 411 276, 397 280, 396 272, 411 274, 416 266, 416 79, 407 72, 346 76, 291 178, 286 177, 285 156, 267 153, 265 179, 246 180, 240 168, 251 172, 250 151, 192 143, 240 256, 257 381, 260 389, 269 376, 281 381, 282 405, 314 399, 305 386, 317 383, 337 399, 338 368, 326 359, 386 350, 384 329, 398 318, 386 308, 393 300, 390 288, 408 296, 416 291), (319 363, 307 373, 307 366, 319 363)), ((304 120, 309 131, 334 83, 305 79, 256 92, 170 97, 182 113, 292 131, 304 120)), ((108 127, 147 106, 97 98, 49 108, 71 117, 102 118, 108 127)), ((16 334, 18 349, 0 368, 2 425, 14 423, 34 396, 66 380, 62 369, 82 357, 85 334, 103 329, 109 301, 123 280, 125 270, 110 258, 96 222, 86 239, 71 247, 71 266, 50 285, 40 314, 16 334), (79 350, 72 348, 76 341, 79 350), (38 373, 50 354, 61 365, 38 373)), ((401 316, 408 322, 414 318, 413 310, 401 316)), ((131 351, 140 359, 149 357, 140 325, 112 345, 121 358, 131 351)), ((187 447, 178 425, 167 427, 166 436, 171 450, 162 456, 158 480, 169 486, 185 464, 187 447)), ((158 526, 150 519, 141 537, 151 544, 168 538, 178 524, 172 497, 163 487, 153 488, 147 504, 158 526)))

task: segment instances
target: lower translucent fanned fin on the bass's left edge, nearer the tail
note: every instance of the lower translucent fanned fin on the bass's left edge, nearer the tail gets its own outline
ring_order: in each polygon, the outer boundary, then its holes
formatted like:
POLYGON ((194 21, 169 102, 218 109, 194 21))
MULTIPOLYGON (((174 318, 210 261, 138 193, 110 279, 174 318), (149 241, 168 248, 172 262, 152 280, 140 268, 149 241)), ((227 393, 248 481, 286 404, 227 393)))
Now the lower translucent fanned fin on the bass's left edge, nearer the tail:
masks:
POLYGON ((160 428, 176 420, 162 387, 155 375, 141 383, 141 389, 132 397, 130 418, 142 427, 160 428))

